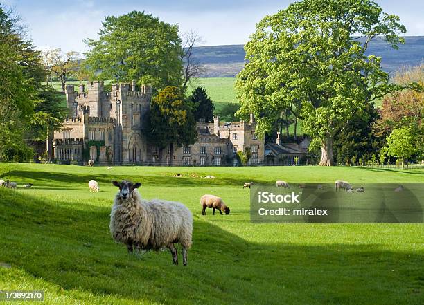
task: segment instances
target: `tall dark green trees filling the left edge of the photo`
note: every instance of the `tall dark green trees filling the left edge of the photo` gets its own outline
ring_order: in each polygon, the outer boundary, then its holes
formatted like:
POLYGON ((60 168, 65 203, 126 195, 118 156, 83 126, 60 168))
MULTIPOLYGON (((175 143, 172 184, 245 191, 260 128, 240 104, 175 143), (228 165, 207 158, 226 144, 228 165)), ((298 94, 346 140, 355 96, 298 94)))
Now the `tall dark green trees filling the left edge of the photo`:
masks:
POLYGON ((42 86, 45 79, 40 53, 19 17, 0 5, 0 160, 28 159, 25 140, 44 140, 47 127, 60 127, 60 100, 42 86))

